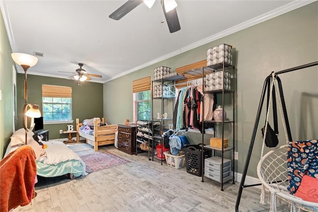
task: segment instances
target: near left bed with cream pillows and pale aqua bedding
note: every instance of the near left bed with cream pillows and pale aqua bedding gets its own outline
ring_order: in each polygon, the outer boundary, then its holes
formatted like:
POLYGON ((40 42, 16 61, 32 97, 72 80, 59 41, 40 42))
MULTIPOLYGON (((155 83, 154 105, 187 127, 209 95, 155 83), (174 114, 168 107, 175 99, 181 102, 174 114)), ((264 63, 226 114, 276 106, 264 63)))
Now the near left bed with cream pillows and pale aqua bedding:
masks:
MULTIPOLYGON (((35 152, 35 162, 37 175, 41 177, 57 177, 67 175, 74 179, 81 175, 85 176, 85 163, 79 155, 73 152, 61 141, 40 141, 45 146, 40 145, 34 140, 33 132, 27 134, 27 145, 30 145, 35 152)), ((25 144, 25 130, 16 130, 11 136, 10 143, 6 148, 5 155, 25 144)))

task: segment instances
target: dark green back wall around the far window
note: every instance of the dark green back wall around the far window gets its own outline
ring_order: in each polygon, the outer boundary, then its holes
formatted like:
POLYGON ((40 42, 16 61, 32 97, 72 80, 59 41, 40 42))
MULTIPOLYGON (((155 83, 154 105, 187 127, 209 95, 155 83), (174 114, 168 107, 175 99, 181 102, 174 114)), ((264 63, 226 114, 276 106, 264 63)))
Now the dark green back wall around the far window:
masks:
MULTIPOLYGON (((32 67, 29 69, 32 70, 32 67)), ((17 108, 18 128, 22 128, 22 108, 24 74, 17 74, 17 108)), ((67 125, 74 126, 76 130, 76 118, 82 121, 85 118, 103 117, 103 84, 82 82, 79 86, 76 80, 66 80, 54 77, 42 77, 27 75, 28 103, 38 104, 42 113, 42 85, 68 86, 72 87, 72 114, 74 123, 44 124, 45 129, 49 129, 49 139, 60 138, 59 130, 67 130, 67 125)), ((67 134, 62 134, 61 138, 66 138, 67 134)))

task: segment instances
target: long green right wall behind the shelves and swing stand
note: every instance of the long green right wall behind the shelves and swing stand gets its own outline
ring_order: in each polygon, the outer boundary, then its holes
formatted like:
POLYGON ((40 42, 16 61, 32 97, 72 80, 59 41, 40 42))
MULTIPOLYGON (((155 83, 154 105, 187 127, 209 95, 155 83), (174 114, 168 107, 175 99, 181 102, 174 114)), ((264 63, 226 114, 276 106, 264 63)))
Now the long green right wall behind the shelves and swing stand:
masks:
MULTIPOLYGON (((182 30, 182 29, 181 29, 182 30)), ((318 60, 318 2, 282 14, 239 32, 212 41, 185 53, 130 73, 104 84, 104 115, 111 122, 133 118, 132 81, 146 76, 153 79, 153 70, 168 66, 174 70, 206 58, 206 50, 227 43, 233 45, 236 79, 236 171, 242 173, 255 122, 264 80, 272 71, 318 60), (112 98, 111 101, 109 97, 112 98)), ((138 54, 139 49, 136 49, 138 54)), ((155 50, 154 50, 155 51, 155 50)), ((294 140, 318 139, 318 67, 280 75, 294 140)), ((230 106, 225 107, 228 114, 230 106)), ((156 111, 154 111, 156 112, 156 111)), ((263 107, 260 124, 265 122, 263 107)), ((286 140, 279 118, 280 145, 286 140)), ((226 132, 231 136, 231 132, 226 132)), ((193 134, 193 133, 192 133, 193 134)), ((191 135, 201 142, 200 134, 191 135)), ((257 134, 247 175, 257 177, 261 137, 257 134)), ((268 151, 266 149, 265 151, 268 151)))

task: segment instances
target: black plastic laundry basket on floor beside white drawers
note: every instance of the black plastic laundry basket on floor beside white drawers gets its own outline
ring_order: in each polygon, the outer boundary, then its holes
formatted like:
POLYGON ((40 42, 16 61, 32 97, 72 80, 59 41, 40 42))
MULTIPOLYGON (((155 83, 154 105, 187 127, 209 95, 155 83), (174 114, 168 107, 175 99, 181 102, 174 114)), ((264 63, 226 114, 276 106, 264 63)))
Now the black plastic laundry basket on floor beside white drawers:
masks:
MULTIPOLYGON (((188 145, 182 149, 185 154, 187 173, 202 176, 202 144, 188 145)), ((204 149, 204 159, 212 156, 212 150, 204 149)))

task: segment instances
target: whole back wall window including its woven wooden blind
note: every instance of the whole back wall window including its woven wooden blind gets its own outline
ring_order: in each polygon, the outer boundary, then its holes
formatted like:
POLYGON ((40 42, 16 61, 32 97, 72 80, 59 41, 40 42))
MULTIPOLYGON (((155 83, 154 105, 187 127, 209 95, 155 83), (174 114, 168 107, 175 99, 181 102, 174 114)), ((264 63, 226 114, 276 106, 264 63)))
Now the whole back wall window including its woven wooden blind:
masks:
POLYGON ((72 120, 72 88, 42 85, 42 113, 46 123, 72 120))

